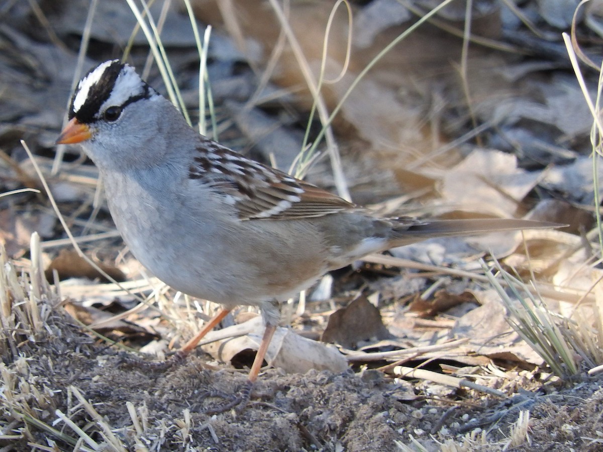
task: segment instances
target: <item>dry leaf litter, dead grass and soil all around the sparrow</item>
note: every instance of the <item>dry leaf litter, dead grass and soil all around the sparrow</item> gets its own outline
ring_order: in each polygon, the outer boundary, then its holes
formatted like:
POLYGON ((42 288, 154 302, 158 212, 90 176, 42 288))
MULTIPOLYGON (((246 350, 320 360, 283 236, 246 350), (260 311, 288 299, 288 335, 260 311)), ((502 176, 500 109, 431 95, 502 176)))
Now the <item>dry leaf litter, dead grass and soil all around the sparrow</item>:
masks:
MULTIPOLYGON (((157 1, 173 87, 127 3, 0 6, 2 450, 601 448, 598 74, 582 65, 584 90, 573 74, 571 2, 474 2, 467 22, 462 2, 199 0, 200 52, 186 2, 157 1), (216 306, 140 268, 95 168, 54 148, 72 80, 124 49, 208 135, 384 215, 569 227, 433 239, 326 275, 285 306, 250 406, 206 415, 205 391, 242 385, 259 318, 227 318, 210 357, 131 365, 216 306), (8 193, 24 187, 41 192, 8 193)), ((590 58, 598 21, 595 2, 578 10, 590 58)))

